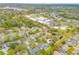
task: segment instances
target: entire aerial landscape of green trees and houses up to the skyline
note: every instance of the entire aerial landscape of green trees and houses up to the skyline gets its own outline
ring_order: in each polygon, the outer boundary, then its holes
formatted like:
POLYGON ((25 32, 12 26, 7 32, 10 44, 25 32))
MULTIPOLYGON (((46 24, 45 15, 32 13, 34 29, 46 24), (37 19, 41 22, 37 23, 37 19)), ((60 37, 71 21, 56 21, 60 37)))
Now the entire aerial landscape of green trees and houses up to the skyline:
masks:
POLYGON ((0 4, 0 55, 79 55, 78 5, 0 4))

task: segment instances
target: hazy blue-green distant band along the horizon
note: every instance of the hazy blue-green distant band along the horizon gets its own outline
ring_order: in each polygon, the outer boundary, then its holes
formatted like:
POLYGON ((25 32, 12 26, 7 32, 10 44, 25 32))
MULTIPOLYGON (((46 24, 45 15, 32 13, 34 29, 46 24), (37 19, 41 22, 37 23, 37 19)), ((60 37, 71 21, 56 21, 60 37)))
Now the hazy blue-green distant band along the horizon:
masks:
POLYGON ((22 4, 22 3, 0 3, 0 7, 18 7, 18 8, 31 8, 31 7, 53 7, 53 8, 79 8, 79 4, 22 4))

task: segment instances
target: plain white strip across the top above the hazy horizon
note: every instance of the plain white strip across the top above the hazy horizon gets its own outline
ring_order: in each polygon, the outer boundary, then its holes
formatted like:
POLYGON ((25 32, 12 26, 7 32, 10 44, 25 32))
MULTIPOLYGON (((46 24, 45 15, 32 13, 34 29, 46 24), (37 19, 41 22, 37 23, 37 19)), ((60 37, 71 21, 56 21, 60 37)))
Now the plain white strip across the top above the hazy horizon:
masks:
POLYGON ((79 3, 79 0, 0 0, 0 3, 79 3))

